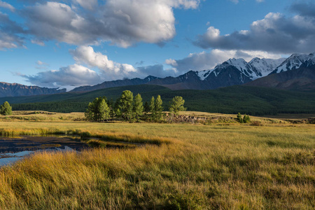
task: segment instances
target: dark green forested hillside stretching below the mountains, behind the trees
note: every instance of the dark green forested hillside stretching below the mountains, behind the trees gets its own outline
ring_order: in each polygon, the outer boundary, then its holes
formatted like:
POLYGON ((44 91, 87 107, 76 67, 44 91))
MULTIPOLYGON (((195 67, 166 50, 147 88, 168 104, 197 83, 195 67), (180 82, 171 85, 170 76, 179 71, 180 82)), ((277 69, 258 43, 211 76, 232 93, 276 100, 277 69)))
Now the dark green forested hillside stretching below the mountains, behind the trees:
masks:
POLYGON ((57 112, 85 111, 88 102, 95 97, 106 96, 116 99, 123 90, 140 93, 144 102, 161 95, 167 110, 169 100, 174 96, 185 99, 188 111, 215 113, 247 113, 269 115, 276 113, 315 113, 315 92, 292 92, 267 87, 232 86, 218 90, 176 90, 157 85, 133 85, 112 87, 92 92, 52 94, 49 96, 0 98, 0 103, 8 101, 13 110, 41 110, 57 112))

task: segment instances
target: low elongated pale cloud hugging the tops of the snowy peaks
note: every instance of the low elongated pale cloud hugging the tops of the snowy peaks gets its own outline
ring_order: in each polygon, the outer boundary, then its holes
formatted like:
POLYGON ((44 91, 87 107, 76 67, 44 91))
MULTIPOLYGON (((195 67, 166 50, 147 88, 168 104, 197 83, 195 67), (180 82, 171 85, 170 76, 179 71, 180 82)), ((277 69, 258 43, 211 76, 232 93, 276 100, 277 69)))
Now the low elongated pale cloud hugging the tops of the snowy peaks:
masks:
POLYGON ((190 70, 214 69, 217 64, 221 64, 230 58, 243 58, 249 62, 254 57, 278 59, 281 55, 262 51, 211 50, 210 52, 192 53, 183 59, 167 59, 166 63, 176 69, 178 74, 182 74, 190 70))

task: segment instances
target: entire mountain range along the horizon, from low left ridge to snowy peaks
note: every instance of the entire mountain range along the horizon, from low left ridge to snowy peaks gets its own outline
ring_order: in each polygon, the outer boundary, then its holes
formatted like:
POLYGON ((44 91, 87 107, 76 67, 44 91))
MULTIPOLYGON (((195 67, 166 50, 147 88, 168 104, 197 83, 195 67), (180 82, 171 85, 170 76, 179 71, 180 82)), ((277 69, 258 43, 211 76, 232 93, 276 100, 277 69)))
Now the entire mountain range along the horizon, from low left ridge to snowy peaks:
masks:
MULTIPOLYGON (((158 78, 147 76, 144 79, 132 78, 106 81, 98 85, 76 87, 71 92, 89 92, 109 87, 127 85, 162 85, 171 90, 212 90, 232 85, 276 87, 284 90, 315 90, 315 53, 293 54, 287 59, 253 58, 228 59, 214 69, 188 71, 181 76, 158 78)), ((17 83, 0 83, 0 97, 16 97, 36 94, 55 94, 66 89, 27 86, 17 83)))

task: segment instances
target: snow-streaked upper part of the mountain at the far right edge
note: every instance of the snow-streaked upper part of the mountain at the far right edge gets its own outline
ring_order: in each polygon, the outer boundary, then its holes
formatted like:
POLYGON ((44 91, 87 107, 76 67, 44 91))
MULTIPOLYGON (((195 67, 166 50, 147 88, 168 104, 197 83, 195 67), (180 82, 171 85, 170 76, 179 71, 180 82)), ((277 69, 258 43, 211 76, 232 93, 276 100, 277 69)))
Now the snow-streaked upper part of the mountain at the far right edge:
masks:
POLYGON ((282 64, 276 67, 272 73, 281 73, 300 68, 301 66, 308 67, 315 64, 315 52, 306 54, 293 54, 288 57, 282 64))

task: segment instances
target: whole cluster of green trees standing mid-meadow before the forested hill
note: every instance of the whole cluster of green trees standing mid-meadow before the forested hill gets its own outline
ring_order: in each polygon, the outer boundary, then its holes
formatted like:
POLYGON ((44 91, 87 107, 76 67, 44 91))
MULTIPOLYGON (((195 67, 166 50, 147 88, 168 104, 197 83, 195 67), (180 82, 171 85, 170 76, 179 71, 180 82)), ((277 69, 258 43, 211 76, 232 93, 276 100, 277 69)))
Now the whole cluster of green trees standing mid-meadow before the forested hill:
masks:
MULTIPOLYGON (((176 96, 169 102, 169 112, 177 115, 179 111, 185 111, 183 97, 176 96)), ((106 97, 97 97, 90 102, 85 111, 85 118, 93 122, 102 122, 107 120, 126 120, 130 122, 139 122, 140 120, 149 120, 151 122, 162 121, 163 102, 158 95, 152 97, 151 101, 142 101, 141 94, 134 94, 130 90, 125 90, 114 103, 106 97)))

